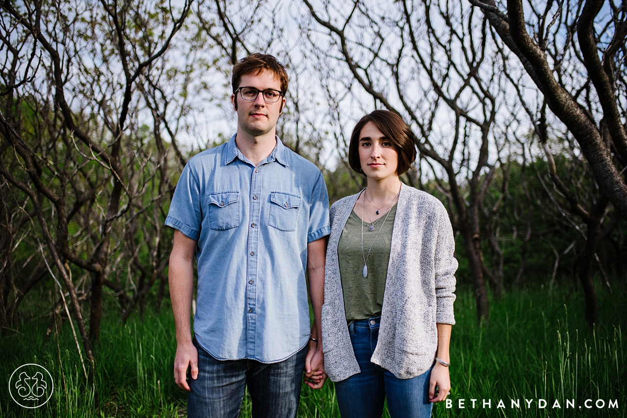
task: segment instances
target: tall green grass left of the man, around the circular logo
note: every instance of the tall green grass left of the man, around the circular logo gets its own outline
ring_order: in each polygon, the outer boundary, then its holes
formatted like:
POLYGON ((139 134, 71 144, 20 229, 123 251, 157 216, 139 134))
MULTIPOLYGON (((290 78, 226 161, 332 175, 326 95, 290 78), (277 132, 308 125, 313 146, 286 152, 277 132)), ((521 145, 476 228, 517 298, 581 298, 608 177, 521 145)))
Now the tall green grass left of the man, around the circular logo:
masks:
POLYGON ((4 388, 13 370, 24 363, 39 363, 55 380, 50 401, 34 410, 13 402, 0 391, 0 416, 5 417, 177 417, 185 410, 185 396, 173 384, 172 360, 176 351, 171 311, 132 318, 121 325, 103 323, 102 340, 95 347, 95 373, 83 374, 69 325, 45 342, 47 321, 24 323, 19 333, 1 340, 0 360, 4 388))

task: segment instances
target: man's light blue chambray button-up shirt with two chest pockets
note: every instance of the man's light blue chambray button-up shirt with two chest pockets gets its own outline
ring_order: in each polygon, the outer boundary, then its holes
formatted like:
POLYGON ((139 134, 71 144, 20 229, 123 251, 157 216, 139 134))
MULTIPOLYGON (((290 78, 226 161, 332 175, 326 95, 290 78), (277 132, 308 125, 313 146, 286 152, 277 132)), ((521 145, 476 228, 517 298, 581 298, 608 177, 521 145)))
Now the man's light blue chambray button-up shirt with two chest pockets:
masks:
POLYGON ((314 164, 277 137, 255 167, 233 135, 187 162, 166 226, 198 241, 194 333, 213 357, 272 363, 307 344, 307 243, 331 231, 314 164))

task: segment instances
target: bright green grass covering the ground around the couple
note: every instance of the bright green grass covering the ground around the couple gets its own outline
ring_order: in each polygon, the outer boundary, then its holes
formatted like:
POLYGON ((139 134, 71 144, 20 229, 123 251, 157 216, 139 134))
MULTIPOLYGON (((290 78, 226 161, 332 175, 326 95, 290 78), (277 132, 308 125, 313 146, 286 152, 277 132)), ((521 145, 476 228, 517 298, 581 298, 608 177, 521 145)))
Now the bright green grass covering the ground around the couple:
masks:
MULTIPOLYGON (((451 403, 450 408, 436 405, 436 417, 627 417, 627 298, 621 290, 610 296, 599 286, 600 320, 594 329, 584 323, 581 293, 566 289, 549 295, 538 288, 492 300, 490 321, 482 324, 472 291, 457 293, 451 403), (520 407, 512 407, 512 400, 520 407)), ((134 316, 125 325, 107 318, 91 384, 69 324, 46 342, 47 324, 48 318, 24 321, 18 333, 1 337, 1 417, 186 415, 186 395, 172 379, 176 343, 168 307, 158 315, 147 313, 144 321, 134 316), (43 365, 55 380, 50 402, 38 409, 19 407, 8 393, 9 376, 24 363, 43 365)), ((246 397, 241 416, 250 414, 246 397)), ((317 391, 303 385, 298 416, 339 417, 332 382, 317 391)))

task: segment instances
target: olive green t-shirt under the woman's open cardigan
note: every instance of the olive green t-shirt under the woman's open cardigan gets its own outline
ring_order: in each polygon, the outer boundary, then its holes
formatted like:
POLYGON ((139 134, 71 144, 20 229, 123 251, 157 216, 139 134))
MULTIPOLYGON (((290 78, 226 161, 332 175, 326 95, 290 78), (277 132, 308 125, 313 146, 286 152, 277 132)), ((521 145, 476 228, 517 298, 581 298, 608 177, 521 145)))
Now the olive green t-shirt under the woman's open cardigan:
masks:
POLYGON ((346 221, 337 245, 337 258, 340 263, 344 310, 346 321, 349 324, 356 320, 381 315, 383 293, 386 289, 387 264, 390 259, 392 231, 394 229, 394 216, 396 216, 396 204, 391 207, 387 219, 384 215, 374 224, 374 231, 368 230, 371 226, 370 222, 363 222, 363 253, 361 219, 353 210, 346 221), (379 233, 378 236, 377 233, 379 233), (370 256, 368 256, 368 249, 371 244, 372 249, 370 256), (364 278, 363 275, 364 258, 368 260, 367 278, 364 278))

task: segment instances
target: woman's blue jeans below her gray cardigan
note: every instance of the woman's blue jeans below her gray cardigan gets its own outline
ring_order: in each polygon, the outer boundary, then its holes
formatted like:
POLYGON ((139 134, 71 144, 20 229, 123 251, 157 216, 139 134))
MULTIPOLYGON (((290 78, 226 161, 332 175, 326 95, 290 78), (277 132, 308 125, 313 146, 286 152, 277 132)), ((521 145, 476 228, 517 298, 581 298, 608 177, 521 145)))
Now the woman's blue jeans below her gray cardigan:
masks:
POLYGON ((398 379, 370 362, 377 347, 380 321, 381 316, 375 316, 349 325, 350 342, 361 373, 335 382, 340 415, 342 418, 381 418, 387 396, 391 418, 430 417, 433 407, 429 402, 431 368, 412 379, 398 379))

